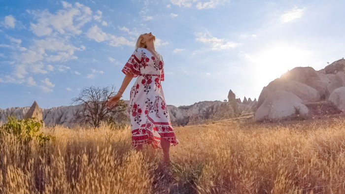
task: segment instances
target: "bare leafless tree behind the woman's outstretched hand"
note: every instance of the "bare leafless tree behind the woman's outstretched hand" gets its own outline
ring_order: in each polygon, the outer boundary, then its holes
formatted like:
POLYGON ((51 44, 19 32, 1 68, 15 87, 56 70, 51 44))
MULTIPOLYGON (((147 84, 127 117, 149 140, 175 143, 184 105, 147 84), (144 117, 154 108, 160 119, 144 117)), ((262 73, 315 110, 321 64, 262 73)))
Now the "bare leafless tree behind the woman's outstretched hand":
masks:
POLYGON ((98 128, 101 121, 111 121, 114 115, 126 110, 127 104, 120 99, 115 106, 108 108, 106 101, 108 97, 115 95, 113 85, 108 87, 90 86, 84 87, 78 97, 72 98, 72 104, 82 104, 83 110, 76 115, 76 121, 79 123, 90 124, 98 128))

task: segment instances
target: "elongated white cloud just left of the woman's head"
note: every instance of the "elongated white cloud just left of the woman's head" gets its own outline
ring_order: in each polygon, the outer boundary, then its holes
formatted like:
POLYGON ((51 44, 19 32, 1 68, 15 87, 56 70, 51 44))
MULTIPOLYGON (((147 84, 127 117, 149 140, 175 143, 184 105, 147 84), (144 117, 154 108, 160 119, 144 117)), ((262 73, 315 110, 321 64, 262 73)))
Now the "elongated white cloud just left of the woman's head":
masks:
POLYGON ((129 45, 134 46, 135 43, 127 40, 123 36, 115 36, 108 33, 103 32, 97 25, 91 27, 88 32, 86 32, 87 37, 90 39, 94 39, 97 42, 103 42, 107 40, 107 44, 113 47, 122 46, 122 45, 129 45))

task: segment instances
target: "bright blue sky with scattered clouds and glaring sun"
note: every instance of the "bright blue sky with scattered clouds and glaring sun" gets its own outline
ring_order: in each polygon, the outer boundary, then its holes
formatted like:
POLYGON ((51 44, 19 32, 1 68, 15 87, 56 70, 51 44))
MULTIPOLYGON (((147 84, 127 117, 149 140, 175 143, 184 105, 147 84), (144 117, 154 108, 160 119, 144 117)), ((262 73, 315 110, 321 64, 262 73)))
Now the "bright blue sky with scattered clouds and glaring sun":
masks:
MULTIPOLYGON (((296 66, 345 57, 344 0, 0 0, 0 108, 69 105, 121 87, 141 33, 156 36, 167 104, 258 98, 296 66)), ((132 79, 122 99, 129 100, 132 79)))

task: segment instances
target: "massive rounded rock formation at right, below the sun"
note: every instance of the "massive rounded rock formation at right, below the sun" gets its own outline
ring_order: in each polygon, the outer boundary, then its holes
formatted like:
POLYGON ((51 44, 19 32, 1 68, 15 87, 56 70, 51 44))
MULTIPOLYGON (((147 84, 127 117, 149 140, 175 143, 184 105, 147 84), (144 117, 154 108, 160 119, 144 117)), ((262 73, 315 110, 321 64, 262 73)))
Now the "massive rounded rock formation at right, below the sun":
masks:
MULTIPOLYGON (((345 101, 345 95, 342 95, 344 93, 343 89, 341 89, 344 86, 344 59, 338 60, 331 65, 327 65, 324 69, 320 69, 318 71, 312 67, 295 67, 281 75, 279 78, 271 81, 262 89, 255 106, 256 112, 254 118, 256 120, 270 118, 280 119, 294 114, 291 107, 295 106, 300 108, 301 114, 311 114, 310 112, 313 111, 308 111, 307 107, 312 107, 315 104, 320 106, 325 104, 329 106, 329 108, 338 107, 341 109, 342 106, 340 104, 345 101), (288 95, 293 100, 288 100, 281 94, 288 95), (280 97, 281 99, 277 99, 277 97, 280 97), (275 105, 271 108, 268 107, 268 104, 276 104, 277 102, 283 104, 281 104, 281 106, 275 105), (336 106, 328 102, 332 102, 336 106), (305 107, 301 104, 307 106, 305 107), (273 112, 278 113, 275 113, 275 116, 273 116, 273 112)), ((331 112, 335 113, 337 111, 339 110, 331 112)))

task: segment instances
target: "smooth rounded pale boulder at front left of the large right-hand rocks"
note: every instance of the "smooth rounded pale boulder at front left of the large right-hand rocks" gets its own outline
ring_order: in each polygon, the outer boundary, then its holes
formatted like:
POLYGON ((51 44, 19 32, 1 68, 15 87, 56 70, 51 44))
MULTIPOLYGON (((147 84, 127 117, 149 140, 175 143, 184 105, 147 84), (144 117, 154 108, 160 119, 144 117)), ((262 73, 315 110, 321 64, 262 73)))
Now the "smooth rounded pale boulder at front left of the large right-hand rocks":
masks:
POLYGON ((291 92, 273 92, 256 110, 254 119, 281 119, 293 114, 307 114, 308 108, 303 100, 291 92))

